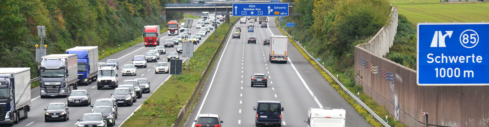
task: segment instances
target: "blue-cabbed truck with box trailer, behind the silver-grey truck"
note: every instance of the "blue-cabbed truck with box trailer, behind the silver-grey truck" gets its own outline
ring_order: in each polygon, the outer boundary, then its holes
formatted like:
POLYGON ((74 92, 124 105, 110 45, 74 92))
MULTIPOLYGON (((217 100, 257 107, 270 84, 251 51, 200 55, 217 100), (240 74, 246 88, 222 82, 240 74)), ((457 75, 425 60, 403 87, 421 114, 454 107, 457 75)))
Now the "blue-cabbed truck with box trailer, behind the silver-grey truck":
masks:
POLYGON ((76 46, 66 54, 77 54, 78 84, 89 85, 98 74, 98 46, 76 46))

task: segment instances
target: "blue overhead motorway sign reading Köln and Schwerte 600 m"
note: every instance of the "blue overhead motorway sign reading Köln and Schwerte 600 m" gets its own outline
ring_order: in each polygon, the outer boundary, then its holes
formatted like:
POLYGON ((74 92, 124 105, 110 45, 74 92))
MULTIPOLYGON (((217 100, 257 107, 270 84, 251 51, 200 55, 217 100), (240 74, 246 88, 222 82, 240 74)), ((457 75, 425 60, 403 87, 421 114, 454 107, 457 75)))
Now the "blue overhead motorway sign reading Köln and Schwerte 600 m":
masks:
POLYGON ((289 3, 233 3, 233 16, 289 16, 289 3))

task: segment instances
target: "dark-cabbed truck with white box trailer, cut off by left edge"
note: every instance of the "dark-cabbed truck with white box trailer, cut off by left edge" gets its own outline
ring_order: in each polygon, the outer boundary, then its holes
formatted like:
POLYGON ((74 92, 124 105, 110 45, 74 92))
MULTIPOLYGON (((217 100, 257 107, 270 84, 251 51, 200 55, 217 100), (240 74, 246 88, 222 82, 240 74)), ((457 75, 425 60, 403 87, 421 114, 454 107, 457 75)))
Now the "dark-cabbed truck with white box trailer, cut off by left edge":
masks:
POLYGON ((27 118, 30 94, 30 68, 0 68, 0 124, 14 126, 27 118))

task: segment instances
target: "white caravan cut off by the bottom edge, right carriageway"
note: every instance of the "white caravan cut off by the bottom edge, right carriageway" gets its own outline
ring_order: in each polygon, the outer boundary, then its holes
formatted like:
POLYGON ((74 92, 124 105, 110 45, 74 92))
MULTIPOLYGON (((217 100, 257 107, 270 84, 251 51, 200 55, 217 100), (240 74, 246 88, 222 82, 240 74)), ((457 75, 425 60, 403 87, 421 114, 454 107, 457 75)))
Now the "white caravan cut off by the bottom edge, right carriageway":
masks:
POLYGON ((307 127, 345 127, 345 109, 309 108, 307 127))

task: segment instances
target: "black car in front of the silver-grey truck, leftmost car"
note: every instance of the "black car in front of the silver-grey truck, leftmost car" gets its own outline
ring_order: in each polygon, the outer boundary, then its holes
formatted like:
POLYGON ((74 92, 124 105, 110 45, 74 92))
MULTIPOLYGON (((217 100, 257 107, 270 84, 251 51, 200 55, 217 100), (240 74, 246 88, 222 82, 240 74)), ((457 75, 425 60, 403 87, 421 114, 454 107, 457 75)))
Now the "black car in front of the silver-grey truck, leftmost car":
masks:
POLYGON ((50 103, 44 110, 46 110, 46 113, 44 114, 44 122, 69 120, 69 111, 65 103, 50 103))

